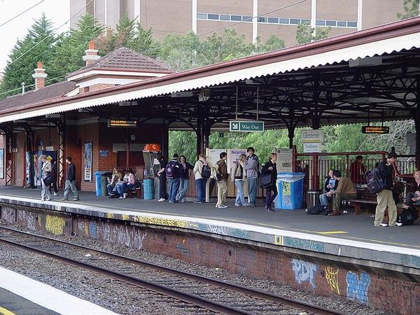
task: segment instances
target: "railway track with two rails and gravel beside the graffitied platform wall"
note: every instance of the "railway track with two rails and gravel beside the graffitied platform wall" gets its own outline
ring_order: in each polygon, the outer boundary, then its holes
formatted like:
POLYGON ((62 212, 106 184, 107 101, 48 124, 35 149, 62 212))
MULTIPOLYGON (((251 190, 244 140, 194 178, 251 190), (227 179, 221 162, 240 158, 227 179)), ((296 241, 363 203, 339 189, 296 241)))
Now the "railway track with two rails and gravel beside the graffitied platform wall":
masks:
POLYGON ((221 314, 343 314, 314 304, 280 297, 206 276, 155 265, 143 260, 87 248, 59 239, 0 227, 0 241, 41 253, 70 265, 99 272, 133 286, 146 288, 221 314))

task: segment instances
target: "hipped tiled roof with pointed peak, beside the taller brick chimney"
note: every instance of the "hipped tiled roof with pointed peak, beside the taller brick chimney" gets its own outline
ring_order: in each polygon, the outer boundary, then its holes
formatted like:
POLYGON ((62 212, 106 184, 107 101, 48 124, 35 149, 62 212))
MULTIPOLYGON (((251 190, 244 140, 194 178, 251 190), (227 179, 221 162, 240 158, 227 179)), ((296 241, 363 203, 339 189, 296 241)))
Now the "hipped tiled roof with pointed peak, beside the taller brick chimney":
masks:
POLYGON ((162 62, 158 62, 151 57, 141 55, 139 52, 134 52, 128 48, 122 47, 110 52, 108 55, 101 57, 96 62, 84 66, 82 69, 70 73, 73 76, 78 73, 83 73, 90 69, 113 69, 113 70, 132 70, 132 71, 147 71, 158 73, 172 73, 162 62))

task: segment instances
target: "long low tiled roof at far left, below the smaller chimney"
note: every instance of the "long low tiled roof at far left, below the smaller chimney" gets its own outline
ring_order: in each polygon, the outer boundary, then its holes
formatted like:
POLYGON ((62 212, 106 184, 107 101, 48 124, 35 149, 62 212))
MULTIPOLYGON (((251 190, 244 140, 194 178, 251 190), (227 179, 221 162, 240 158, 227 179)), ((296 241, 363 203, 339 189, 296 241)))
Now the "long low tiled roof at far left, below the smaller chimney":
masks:
POLYGON ((71 90, 76 88, 76 82, 74 81, 64 81, 55 83, 52 85, 47 85, 39 90, 31 90, 25 94, 13 95, 7 97, 6 99, 0 100, 0 112, 6 109, 17 109, 20 106, 25 106, 29 104, 35 104, 37 102, 43 102, 48 99, 59 99, 64 97, 64 95, 71 90))

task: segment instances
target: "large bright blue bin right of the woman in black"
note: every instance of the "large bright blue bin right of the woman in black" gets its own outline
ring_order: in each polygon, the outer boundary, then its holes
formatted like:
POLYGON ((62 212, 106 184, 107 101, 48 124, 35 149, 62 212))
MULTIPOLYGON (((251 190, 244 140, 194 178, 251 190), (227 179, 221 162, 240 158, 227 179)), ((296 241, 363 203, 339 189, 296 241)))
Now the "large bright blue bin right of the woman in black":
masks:
POLYGON ((277 174, 276 209, 302 209, 304 173, 279 172, 277 174))

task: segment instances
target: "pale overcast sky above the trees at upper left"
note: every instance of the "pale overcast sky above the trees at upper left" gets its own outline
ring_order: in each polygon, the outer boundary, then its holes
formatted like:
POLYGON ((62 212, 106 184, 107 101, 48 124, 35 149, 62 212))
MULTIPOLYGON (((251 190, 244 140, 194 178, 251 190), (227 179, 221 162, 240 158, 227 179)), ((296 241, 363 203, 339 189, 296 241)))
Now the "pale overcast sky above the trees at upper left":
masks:
MULTIPOLYGON (((0 0, 0 25, 40 1, 42 0, 0 0)), ((15 45, 16 40, 25 37, 27 29, 34 24, 34 20, 41 18, 42 13, 45 13, 47 18, 52 21, 53 27, 57 28, 70 18, 69 0, 43 0, 42 3, 31 8, 27 13, 20 15, 6 25, 0 26, 0 71, 3 71, 6 66, 9 52, 15 45)), ((57 31, 66 31, 69 24, 70 22, 57 31)))

